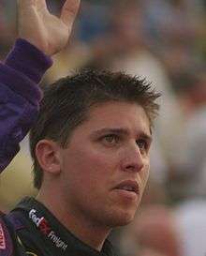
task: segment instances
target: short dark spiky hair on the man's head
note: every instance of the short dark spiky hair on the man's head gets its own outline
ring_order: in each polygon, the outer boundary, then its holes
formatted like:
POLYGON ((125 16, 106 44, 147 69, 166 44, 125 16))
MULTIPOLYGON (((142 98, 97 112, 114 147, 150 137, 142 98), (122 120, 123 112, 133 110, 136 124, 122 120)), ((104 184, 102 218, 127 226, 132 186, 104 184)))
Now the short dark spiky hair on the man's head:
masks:
POLYGON ((136 102, 147 114, 151 127, 158 111, 159 94, 151 83, 123 72, 82 70, 43 88, 37 122, 30 132, 30 150, 34 160, 34 185, 40 188, 43 172, 35 149, 42 139, 51 139, 66 147, 74 128, 86 119, 89 109, 107 101, 136 102))

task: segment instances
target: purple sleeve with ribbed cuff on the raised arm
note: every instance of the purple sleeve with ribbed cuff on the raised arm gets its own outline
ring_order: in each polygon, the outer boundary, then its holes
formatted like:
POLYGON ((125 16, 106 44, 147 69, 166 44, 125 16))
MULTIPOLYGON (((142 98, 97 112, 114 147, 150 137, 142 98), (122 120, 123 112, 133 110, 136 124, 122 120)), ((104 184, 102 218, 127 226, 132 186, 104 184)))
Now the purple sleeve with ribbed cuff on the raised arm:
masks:
POLYGON ((0 173, 37 118, 41 99, 37 83, 51 64, 49 56, 21 38, 0 63, 0 173))

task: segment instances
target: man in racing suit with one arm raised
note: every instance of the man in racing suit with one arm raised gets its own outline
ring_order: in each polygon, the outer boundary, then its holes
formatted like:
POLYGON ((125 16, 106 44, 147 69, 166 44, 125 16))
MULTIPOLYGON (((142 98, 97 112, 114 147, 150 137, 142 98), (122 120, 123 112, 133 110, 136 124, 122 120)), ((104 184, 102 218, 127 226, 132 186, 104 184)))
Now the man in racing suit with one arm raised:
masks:
POLYGON ((0 67, 1 170, 33 125, 39 193, 1 218, 0 255, 112 255, 107 236, 132 220, 148 179, 158 95, 143 81, 83 71, 47 86, 37 114, 36 83, 78 6, 67 0, 57 19, 43 0, 19 1, 21 39, 0 67))

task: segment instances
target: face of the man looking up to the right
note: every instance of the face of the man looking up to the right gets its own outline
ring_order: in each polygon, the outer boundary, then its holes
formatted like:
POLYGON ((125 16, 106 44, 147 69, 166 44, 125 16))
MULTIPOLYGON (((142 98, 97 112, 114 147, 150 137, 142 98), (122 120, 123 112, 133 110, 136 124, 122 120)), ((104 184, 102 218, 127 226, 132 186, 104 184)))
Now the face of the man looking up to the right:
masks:
POLYGON ((125 225, 149 174, 151 132, 135 103, 93 107, 61 149, 61 187, 68 213, 105 227, 125 225))

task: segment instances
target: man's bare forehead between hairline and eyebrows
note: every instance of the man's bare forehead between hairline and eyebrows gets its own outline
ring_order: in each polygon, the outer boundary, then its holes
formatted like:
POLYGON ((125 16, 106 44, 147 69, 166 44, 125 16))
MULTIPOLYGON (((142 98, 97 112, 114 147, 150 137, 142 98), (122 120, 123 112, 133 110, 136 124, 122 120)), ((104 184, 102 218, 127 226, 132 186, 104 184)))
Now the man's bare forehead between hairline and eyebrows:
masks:
POLYGON ((137 103, 122 101, 110 101, 91 107, 82 126, 88 131, 123 128, 129 132, 151 135, 150 122, 143 108, 137 103))

